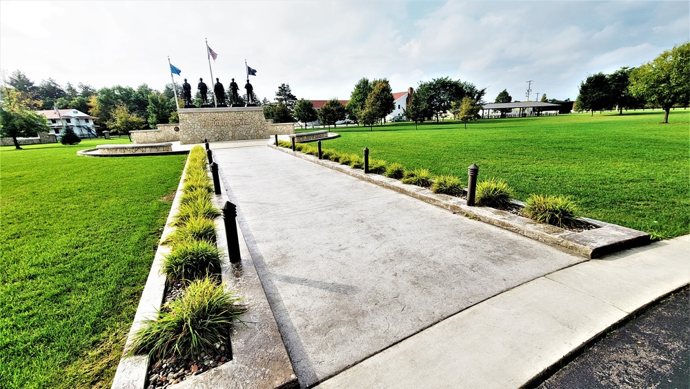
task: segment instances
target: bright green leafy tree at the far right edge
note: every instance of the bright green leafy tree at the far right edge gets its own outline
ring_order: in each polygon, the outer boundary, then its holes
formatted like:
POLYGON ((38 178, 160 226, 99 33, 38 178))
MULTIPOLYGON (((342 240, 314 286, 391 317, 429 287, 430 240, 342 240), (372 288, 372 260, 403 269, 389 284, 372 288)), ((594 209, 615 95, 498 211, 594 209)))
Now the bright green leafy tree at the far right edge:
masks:
POLYGON ((630 73, 630 91, 648 104, 664 109, 664 121, 676 105, 690 103, 690 42, 661 53, 630 73))

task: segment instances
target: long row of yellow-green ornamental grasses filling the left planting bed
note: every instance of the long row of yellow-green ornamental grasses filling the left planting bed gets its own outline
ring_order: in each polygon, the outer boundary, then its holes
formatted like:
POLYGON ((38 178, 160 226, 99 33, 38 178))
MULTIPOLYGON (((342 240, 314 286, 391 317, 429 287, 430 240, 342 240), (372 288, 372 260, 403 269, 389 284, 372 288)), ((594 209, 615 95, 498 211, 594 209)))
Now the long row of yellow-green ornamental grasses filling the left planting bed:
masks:
POLYGON ((222 366, 233 358, 230 328, 246 310, 242 298, 221 283, 223 252, 216 246, 213 184, 206 152, 190 151, 175 231, 163 244, 161 272, 166 276, 164 303, 154 318, 141 323, 128 344, 128 354, 147 354, 146 388, 165 388, 191 375, 222 366))

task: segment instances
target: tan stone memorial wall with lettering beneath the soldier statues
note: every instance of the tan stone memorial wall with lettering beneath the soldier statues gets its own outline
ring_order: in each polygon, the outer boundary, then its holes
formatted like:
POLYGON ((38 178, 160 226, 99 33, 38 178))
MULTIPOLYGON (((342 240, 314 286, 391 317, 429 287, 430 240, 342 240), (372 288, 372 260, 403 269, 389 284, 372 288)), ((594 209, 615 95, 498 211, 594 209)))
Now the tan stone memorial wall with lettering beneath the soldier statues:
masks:
POLYGON ((179 142, 193 144, 228 140, 268 139, 274 133, 294 133, 292 123, 271 124, 264 108, 183 108, 179 114, 179 142))

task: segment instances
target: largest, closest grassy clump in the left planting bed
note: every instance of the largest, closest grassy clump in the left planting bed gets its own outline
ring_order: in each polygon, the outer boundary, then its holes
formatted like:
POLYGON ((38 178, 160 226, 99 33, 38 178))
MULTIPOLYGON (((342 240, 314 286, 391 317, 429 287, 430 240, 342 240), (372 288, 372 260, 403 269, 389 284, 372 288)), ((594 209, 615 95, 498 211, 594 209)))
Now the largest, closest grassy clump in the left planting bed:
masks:
POLYGON ((156 359, 176 355, 184 359, 210 352, 214 344, 226 343, 229 327, 246 312, 242 301, 225 292, 208 278, 191 283, 169 312, 159 312, 156 319, 144 321, 137 331, 129 354, 148 354, 156 359))

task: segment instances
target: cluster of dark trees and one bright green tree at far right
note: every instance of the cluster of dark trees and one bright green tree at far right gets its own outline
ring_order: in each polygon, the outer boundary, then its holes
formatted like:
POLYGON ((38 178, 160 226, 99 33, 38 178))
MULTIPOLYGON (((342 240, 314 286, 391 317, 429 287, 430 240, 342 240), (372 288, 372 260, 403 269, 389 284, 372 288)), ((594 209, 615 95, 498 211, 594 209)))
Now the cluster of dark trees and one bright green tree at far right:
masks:
POLYGON ((666 50, 637 68, 623 67, 607 75, 590 75, 580 84, 577 111, 662 108, 663 123, 675 106, 690 104, 690 42, 666 50))

